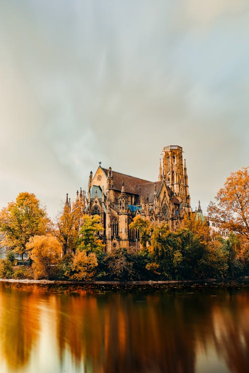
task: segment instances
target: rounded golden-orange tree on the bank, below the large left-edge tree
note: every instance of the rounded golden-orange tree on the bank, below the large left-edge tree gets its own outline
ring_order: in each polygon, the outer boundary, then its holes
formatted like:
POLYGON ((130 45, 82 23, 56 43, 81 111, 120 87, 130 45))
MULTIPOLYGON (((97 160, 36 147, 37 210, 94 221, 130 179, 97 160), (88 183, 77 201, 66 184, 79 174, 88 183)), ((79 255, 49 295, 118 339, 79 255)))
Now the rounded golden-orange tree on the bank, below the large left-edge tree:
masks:
POLYGON ((26 244, 31 250, 34 277, 36 279, 51 279, 56 272, 56 266, 61 258, 61 244, 51 234, 34 236, 26 244))

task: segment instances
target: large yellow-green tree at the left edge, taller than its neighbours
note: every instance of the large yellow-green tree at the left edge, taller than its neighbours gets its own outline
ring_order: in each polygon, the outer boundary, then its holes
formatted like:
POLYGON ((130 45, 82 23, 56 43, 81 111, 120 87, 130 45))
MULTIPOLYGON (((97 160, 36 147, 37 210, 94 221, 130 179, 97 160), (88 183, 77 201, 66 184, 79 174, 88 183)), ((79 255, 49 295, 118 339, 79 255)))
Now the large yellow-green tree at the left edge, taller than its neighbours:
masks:
POLYGON ((44 235, 51 222, 44 208, 33 193, 22 192, 16 200, 0 211, 0 231, 4 234, 2 243, 22 255, 29 238, 44 235))

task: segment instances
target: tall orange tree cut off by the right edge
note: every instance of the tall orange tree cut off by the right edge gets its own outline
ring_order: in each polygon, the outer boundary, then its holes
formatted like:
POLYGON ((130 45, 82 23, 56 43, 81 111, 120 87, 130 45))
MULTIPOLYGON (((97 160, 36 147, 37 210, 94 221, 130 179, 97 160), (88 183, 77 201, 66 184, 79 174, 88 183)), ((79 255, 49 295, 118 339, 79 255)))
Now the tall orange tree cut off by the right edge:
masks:
POLYGON ((210 202, 210 220, 219 221, 223 229, 235 232, 249 241, 249 174, 248 167, 231 173, 224 187, 210 202))

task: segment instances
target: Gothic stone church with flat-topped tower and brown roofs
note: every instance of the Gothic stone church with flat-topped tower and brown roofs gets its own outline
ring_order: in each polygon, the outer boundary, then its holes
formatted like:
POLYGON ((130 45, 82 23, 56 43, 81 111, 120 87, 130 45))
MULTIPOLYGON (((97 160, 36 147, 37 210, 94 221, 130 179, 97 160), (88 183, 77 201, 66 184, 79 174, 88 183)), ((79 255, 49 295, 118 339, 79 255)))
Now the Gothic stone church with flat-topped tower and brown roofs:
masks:
MULTIPOLYGON (((70 206, 70 199, 66 199, 70 206)), ((162 149, 159 176, 155 182, 128 176, 103 168, 101 163, 90 172, 88 190, 77 191, 72 208, 80 207, 79 228, 84 214, 100 215, 104 231, 98 232, 106 251, 139 245, 139 231, 129 229, 136 215, 153 222, 165 221, 176 230, 183 216, 191 211, 186 160, 182 147, 169 145, 162 149)))

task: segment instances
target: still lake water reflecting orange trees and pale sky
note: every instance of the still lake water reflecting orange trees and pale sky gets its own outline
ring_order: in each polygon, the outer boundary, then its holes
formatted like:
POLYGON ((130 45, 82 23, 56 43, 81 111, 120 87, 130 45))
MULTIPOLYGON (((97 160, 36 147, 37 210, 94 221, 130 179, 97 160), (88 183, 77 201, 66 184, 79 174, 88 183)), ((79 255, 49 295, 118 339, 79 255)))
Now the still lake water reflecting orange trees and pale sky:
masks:
POLYGON ((9 372, 247 372, 249 290, 0 284, 9 372))

